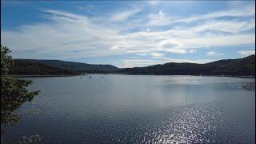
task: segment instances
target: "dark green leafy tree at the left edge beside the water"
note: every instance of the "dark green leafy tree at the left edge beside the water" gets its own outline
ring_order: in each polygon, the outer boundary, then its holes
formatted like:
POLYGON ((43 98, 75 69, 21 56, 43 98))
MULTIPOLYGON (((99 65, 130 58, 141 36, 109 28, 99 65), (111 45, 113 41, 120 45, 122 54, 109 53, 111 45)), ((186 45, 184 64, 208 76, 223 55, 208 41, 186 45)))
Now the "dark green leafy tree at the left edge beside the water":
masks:
POLYGON ((12 124, 18 122, 20 116, 14 114, 24 102, 30 102, 39 90, 30 91, 27 87, 32 81, 14 78, 9 74, 12 66, 10 50, 1 45, 1 124, 12 124))

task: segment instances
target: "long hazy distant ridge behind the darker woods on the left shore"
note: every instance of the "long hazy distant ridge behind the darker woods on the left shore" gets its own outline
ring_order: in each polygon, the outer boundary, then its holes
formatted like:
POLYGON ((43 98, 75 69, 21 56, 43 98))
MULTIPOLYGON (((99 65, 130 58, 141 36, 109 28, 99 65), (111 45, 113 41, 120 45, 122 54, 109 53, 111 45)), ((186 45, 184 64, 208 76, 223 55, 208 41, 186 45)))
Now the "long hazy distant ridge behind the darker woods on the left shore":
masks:
POLYGON ((118 67, 112 65, 91 65, 82 62, 66 62, 60 60, 39 60, 39 59, 14 59, 14 62, 29 62, 46 64, 48 66, 54 66, 60 69, 66 70, 80 70, 80 71, 114 71, 118 70, 118 67))

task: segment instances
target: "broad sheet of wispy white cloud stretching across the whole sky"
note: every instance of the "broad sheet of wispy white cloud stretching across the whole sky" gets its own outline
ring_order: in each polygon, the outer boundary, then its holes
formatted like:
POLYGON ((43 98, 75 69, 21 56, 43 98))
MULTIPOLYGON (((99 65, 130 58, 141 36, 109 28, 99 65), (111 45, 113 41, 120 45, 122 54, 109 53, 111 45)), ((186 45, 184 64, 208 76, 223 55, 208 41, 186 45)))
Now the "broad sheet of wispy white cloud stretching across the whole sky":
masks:
MULTIPOLYGON (((153 58, 148 61, 125 59, 122 61, 124 66, 129 62, 133 66, 145 66, 146 62, 210 62, 174 59, 166 55, 194 54, 212 46, 255 44, 255 13, 251 6, 244 10, 219 10, 186 18, 163 10, 156 14, 140 14, 143 10, 132 7, 94 17, 65 10, 43 10, 46 21, 19 26, 18 30, 1 30, 1 42, 12 48, 14 58, 100 58, 120 54, 153 58), (175 25, 175 22, 179 24, 175 25), (194 24, 189 25, 190 22, 194 24), (165 27, 159 29, 159 26, 165 27)), ((249 53, 238 52, 242 55, 249 53)), ((221 55, 214 50, 206 54, 221 55)))

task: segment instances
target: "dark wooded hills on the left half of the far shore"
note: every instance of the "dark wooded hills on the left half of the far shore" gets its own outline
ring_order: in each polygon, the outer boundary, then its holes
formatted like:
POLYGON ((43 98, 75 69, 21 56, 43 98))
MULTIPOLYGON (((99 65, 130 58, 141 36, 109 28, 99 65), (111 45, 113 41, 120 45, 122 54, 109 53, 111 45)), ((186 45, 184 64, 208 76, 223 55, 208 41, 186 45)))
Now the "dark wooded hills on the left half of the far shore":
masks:
POLYGON ((10 74, 27 75, 75 75, 82 73, 111 73, 118 70, 111 65, 90 65, 82 62, 65 62, 59 60, 14 59, 10 74))

